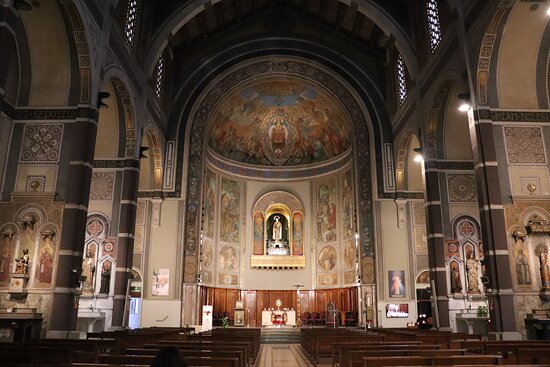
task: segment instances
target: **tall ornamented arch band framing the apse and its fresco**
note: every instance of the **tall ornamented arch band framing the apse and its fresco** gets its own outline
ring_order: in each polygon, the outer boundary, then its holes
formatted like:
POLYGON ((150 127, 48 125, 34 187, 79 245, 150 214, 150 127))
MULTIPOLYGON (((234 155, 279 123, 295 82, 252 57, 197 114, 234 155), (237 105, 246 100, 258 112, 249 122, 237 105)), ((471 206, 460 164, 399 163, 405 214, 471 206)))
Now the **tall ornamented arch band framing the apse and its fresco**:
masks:
MULTIPOLYGON (((184 150, 188 155, 187 171, 189 173, 187 179, 186 198, 187 207, 184 215, 185 219, 185 238, 184 246, 186 253, 186 267, 192 267, 193 258, 196 256, 197 244, 199 242, 200 233, 199 226, 200 212, 197 210, 201 205, 202 198, 200 197, 202 185, 202 172, 204 161, 204 146, 210 139, 206 130, 208 122, 213 116, 216 105, 227 93, 236 87, 243 85, 243 82, 257 79, 266 75, 278 75, 281 78, 287 76, 296 76, 311 81, 311 84, 317 85, 319 88, 326 90, 328 93, 335 96, 341 104, 345 113, 350 117, 350 127, 354 128, 354 135, 359 141, 355 149, 357 157, 357 178, 360 190, 359 195, 359 212, 358 217, 361 218, 359 226, 359 235, 361 241, 362 263, 369 264, 374 262, 374 244, 372 241, 372 193, 371 193, 371 173, 370 173, 370 144, 368 141, 369 132, 367 131, 367 118, 362 112, 362 108, 358 105, 354 95, 348 90, 337 78, 320 69, 316 65, 310 65, 297 59, 274 59, 273 57, 256 60, 252 63, 244 65, 241 68, 228 72, 222 79, 218 80, 212 88, 205 94, 204 98, 199 101, 196 111, 193 116, 193 125, 189 131, 190 142, 178 151, 178 156, 181 157, 184 150)), ((243 108, 246 108, 243 106, 243 108)), ((245 112, 243 109, 241 112, 245 112)), ((246 111, 245 113, 247 113, 246 111)), ((211 130, 208 130, 211 131, 211 130)), ((351 131, 350 131, 351 133, 351 131)), ((224 140, 225 141, 225 140, 224 140)), ((183 175, 177 175, 180 177, 183 175)), ((174 193, 176 195, 177 193, 174 193)), ((255 211, 254 211, 255 212, 255 211)), ((197 259, 196 259, 197 260, 197 259)), ((367 269, 368 270, 368 269, 367 269)), ((184 281, 193 283, 196 277, 192 272, 184 272, 184 281)), ((373 273, 369 272, 366 279, 368 282, 375 282, 373 273)))

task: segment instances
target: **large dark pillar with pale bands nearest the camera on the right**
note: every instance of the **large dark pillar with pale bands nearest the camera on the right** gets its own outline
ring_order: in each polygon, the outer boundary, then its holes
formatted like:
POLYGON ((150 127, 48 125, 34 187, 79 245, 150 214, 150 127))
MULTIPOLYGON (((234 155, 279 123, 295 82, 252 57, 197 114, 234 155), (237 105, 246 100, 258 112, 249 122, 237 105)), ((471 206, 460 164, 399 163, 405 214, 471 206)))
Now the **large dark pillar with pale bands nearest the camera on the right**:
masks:
POLYGON ((486 107, 468 112, 470 141, 474 155, 476 186, 479 196, 481 233, 483 236, 485 271, 489 277, 486 294, 490 298, 492 339, 517 339, 514 315, 512 274, 506 238, 506 222, 502 192, 498 182, 497 152, 491 111, 486 107))

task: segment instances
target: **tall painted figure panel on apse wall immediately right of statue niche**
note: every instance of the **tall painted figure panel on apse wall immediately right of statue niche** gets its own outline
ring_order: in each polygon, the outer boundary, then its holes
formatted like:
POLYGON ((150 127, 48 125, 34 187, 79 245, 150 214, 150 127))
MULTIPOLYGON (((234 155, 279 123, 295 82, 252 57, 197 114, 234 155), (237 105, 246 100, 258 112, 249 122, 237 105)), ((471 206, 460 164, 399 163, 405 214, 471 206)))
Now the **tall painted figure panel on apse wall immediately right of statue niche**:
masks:
POLYGON ((317 186, 317 241, 336 241, 336 179, 325 180, 317 186))

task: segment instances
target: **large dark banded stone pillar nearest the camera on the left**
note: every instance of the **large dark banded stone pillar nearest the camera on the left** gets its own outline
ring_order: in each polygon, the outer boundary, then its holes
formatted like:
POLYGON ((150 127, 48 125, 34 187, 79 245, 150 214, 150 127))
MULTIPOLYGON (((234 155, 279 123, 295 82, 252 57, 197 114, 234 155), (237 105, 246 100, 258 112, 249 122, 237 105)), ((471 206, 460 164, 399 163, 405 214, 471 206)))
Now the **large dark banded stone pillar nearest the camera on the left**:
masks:
POLYGON ((79 111, 79 117, 65 133, 71 134, 69 164, 70 177, 65 187, 62 234, 57 265, 57 278, 53 291, 51 336, 65 337, 76 330, 78 314, 78 276, 82 266, 82 252, 88 216, 88 200, 92 180, 92 165, 97 132, 97 111, 79 111))

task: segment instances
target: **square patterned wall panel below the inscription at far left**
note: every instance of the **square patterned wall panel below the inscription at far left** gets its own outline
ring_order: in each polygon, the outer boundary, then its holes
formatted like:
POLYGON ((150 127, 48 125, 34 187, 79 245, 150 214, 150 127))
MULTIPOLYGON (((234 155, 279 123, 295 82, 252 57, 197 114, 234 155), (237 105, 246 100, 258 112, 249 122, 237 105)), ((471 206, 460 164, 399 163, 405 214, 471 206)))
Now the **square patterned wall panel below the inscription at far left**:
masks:
POLYGON ((63 141, 62 124, 25 124, 20 161, 57 162, 63 141))

